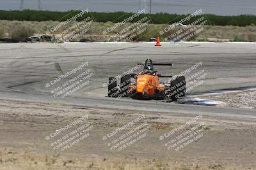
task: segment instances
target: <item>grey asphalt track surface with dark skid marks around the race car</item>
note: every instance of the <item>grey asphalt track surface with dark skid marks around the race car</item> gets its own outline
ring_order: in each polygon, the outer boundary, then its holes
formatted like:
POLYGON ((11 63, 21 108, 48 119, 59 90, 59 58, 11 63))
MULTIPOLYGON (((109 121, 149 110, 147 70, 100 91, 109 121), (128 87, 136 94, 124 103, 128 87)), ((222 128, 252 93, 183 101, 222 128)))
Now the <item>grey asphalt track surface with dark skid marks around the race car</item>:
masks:
MULTIPOLYGON (((214 92, 238 87, 256 87, 256 45, 232 43, 74 43, 74 44, 1 44, 0 99, 60 103, 92 108, 134 110, 142 113, 202 114, 211 117, 255 119, 256 111, 239 108, 218 108, 163 101, 115 99, 107 96, 102 87, 109 76, 116 76, 143 62, 148 57, 156 62, 172 62, 173 74, 202 62, 207 77, 202 85, 189 94, 214 92), (52 97, 49 83, 61 73, 88 62, 93 76, 88 86, 71 96, 52 97)), ((170 67, 156 68, 159 73, 171 74, 170 67)), ((185 75, 189 76, 189 75, 185 75)))

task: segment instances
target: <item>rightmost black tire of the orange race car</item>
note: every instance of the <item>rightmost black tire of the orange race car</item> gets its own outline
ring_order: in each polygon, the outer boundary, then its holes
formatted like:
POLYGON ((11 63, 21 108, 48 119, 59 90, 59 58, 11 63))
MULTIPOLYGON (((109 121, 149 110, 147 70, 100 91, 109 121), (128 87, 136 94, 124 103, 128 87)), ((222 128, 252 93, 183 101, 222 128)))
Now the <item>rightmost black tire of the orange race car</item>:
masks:
POLYGON ((180 97, 184 97, 186 92, 186 80, 184 76, 180 76, 171 82, 172 101, 177 101, 180 97))

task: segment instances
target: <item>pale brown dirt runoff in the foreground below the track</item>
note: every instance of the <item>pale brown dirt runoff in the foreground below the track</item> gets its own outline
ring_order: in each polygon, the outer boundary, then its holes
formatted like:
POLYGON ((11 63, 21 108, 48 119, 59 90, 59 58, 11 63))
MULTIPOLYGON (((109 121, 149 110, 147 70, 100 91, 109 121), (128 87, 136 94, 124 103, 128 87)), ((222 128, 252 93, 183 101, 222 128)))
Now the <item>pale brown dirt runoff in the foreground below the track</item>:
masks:
POLYGON ((0 101, 0 169, 256 169, 256 122, 0 101))

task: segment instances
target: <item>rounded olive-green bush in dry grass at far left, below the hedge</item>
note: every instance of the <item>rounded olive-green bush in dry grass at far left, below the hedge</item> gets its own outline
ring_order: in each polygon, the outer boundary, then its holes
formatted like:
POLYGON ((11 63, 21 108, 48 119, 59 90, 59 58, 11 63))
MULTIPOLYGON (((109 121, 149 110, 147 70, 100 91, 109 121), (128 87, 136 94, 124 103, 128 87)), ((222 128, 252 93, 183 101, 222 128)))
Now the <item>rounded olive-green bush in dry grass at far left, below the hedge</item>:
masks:
POLYGON ((34 33, 35 33, 34 29, 31 29, 30 27, 22 26, 22 27, 18 27, 17 29, 13 29, 10 32, 10 36, 12 36, 12 38, 26 38, 29 36, 33 36, 34 33))

